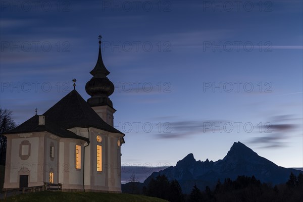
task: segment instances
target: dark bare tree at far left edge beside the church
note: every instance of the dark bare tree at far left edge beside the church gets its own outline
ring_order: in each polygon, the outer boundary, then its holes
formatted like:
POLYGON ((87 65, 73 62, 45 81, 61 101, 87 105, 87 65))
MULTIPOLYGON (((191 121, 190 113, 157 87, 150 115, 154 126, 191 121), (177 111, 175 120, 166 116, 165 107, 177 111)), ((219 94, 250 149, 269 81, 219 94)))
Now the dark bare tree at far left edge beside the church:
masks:
POLYGON ((7 146, 7 138, 2 133, 16 127, 12 113, 10 110, 0 108, 0 165, 5 165, 7 146))

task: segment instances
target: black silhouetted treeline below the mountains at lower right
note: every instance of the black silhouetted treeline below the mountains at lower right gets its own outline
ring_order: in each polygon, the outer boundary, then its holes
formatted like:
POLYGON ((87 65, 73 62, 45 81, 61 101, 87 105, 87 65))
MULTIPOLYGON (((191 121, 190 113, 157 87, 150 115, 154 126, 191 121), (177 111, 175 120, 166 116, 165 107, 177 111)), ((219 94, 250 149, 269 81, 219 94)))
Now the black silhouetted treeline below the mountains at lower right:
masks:
POLYGON ((213 190, 206 186, 200 190, 193 186, 191 193, 182 193, 177 180, 169 181, 165 175, 151 179, 143 194, 166 199, 171 202, 303 202, 303 174, 290 174, 285 184, 272 186, 261 183, 254 176, 238 176, 221 183, 218 180, 213 190))

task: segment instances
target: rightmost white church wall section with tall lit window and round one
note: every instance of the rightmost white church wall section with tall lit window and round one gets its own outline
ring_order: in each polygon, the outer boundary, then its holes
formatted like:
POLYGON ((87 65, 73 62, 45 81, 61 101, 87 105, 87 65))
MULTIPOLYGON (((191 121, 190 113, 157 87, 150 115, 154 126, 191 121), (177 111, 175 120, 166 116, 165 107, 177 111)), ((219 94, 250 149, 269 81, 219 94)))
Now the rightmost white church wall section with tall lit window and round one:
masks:
POLYGON ((86 190, 121 192, 119 136, 95 128, 90 130, 90 144, 85 148, 86 190), (97 171, 97 145, 102 146, 102 171, 97 171))

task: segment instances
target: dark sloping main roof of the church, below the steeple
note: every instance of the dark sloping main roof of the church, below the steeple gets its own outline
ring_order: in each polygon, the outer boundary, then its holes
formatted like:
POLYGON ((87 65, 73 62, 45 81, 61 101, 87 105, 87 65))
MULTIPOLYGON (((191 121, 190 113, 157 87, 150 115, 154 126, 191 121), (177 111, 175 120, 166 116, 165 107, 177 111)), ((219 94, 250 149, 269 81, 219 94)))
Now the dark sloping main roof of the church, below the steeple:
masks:
POLYGON ((47 110, 43 116, 45 116, 45 126, 38 125, 38 116, 36 115, 4 134, 49 131, 60 137, 83 139, 84 137, 66 130, 74 127, 94 127, 113 133, 123 134, 103 121, 75 89, 63 97, 52 108, 47 110))

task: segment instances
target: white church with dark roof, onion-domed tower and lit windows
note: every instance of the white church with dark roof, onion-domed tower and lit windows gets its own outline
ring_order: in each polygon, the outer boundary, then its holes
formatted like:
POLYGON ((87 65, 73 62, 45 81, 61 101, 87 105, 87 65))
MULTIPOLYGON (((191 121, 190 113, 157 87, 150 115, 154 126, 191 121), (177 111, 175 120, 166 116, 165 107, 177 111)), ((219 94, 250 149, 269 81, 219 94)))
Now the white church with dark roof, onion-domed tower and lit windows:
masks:
POLYGON ((113 127, 116 110, 99 52, 85 101, 75 89, 42 115, 7 131, 4 189, 62 184, 63 191, 121 193, 121 145, 124 135, 113 127))

